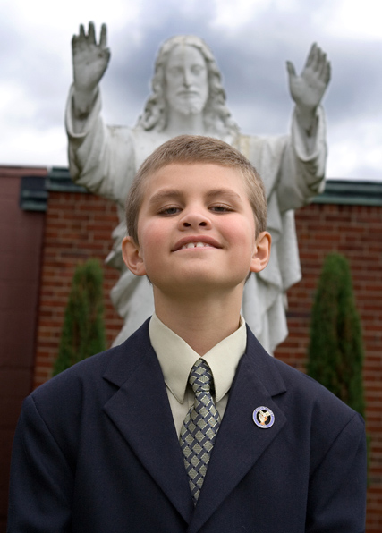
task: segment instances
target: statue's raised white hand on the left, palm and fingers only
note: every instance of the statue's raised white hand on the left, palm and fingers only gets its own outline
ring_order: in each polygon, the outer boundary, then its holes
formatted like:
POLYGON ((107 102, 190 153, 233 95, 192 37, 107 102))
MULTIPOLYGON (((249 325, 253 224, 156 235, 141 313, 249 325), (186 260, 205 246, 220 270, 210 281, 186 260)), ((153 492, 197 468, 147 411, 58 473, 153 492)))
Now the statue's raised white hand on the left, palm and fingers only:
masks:
POLYGON ((93 22, 89 22, 88 35, 83 25, 79 35, 72 38, 72 61, 74 89, 81 93, 92 93, 104 75, 110 59, 110 50, 106 47, 106 25, 102 24, 99 43, 93 22))

